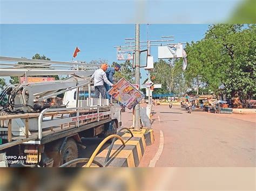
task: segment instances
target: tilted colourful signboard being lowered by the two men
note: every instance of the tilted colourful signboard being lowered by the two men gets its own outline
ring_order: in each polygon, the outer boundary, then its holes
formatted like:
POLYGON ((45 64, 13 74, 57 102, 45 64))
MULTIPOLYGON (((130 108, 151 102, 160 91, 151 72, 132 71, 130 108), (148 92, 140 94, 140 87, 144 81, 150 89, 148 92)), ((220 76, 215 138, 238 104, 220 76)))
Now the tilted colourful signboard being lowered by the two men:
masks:
POLYGON ((117 82, 117 86, 111 88, 107 93, 109 93, 118 102, 121 102, 128 109, 132 109, 145 97, 124 78, 119 80, 119 82, 117 82))

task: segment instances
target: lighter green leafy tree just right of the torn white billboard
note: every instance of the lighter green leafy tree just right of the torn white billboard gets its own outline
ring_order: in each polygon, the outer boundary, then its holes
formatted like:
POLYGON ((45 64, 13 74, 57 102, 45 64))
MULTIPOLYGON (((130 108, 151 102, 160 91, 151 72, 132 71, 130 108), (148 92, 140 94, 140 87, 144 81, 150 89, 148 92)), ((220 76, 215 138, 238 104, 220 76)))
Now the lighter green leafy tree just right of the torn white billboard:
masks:
POLYGON ((221 45, 210 39, 186 46, 188 66, 185 78, 192 88, 196 87, 197 93, 201 86, 218 91, 223 77, 223 68, 219 64, 223 62, 220 48, 221 45))

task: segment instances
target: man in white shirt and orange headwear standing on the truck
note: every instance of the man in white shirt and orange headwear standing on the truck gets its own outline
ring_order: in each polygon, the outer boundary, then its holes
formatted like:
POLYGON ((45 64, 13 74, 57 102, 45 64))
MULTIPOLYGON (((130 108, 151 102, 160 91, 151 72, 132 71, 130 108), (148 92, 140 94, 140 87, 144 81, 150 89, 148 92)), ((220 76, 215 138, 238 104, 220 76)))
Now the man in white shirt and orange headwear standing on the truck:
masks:
POLYGON ((104 82, 111 87, 115 87, 116 84, 112 84, 109 80, 107 80, 105 71, 107 70, 107 64, 103 63, 103 65, 97 69, 91 76, 91 81, 94 79, 94 88, 95 88, 95 96, 99 98, 99 93, 102 95, 102 98, 106 98, 106 88, 104 86, 104 82))

